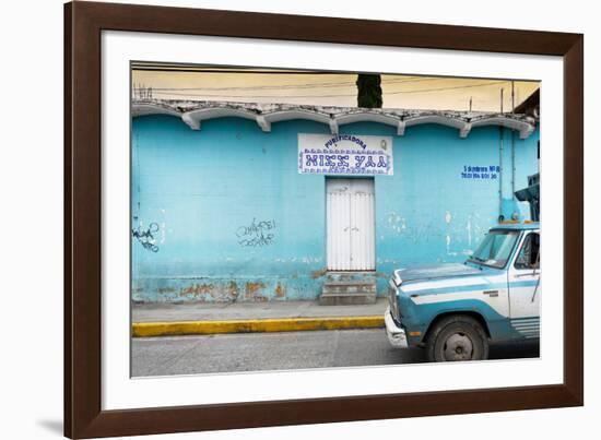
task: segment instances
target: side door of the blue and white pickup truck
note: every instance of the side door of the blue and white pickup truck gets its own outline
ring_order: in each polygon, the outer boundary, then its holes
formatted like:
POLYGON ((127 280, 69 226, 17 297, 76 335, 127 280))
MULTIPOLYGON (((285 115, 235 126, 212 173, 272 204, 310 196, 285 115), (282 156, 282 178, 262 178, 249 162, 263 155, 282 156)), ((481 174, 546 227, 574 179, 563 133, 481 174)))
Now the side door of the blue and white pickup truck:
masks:
POLYGON ((539 337, 540 332, 540 240, 538 230, 525 233, 507 272, 511 325, 525 337, 539 337))

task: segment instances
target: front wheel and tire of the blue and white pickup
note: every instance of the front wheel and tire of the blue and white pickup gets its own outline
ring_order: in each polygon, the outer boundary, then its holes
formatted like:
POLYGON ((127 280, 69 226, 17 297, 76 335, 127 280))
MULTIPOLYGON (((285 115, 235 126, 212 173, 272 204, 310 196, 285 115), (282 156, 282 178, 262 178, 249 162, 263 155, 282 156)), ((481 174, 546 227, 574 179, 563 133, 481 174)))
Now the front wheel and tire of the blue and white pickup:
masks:
POLYGON ((482 360, 488 358, 488 338, 475 319, 453 314, 432 328, 426 350, 433 362, 482 360))

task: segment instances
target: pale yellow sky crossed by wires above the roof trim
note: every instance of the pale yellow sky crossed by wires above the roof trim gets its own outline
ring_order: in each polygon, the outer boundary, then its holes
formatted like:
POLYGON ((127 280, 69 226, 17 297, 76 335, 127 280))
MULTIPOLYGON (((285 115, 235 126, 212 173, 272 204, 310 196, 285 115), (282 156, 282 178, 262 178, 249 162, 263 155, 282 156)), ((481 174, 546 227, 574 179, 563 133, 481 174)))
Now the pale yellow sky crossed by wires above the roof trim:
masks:
MULTIPOLYGON (((356 107, 356 73, 132 64, 133 87, 152 87, 153 98, 356 107)), ((384 108, 511 111, 540 83, 507 79, 464 79, 382 74, 384 108)))

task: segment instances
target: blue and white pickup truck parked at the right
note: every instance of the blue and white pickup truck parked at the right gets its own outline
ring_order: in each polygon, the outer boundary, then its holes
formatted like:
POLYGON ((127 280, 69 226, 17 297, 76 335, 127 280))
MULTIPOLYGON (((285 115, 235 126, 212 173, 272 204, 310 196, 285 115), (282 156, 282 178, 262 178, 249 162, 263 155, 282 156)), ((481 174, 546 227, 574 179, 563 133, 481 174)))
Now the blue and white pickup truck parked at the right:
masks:
POLYGON ((539 249, 539 223, 503 224, 462 264, 396 270, 388 340, 446 361, 486 359, 490 342, 538 338, 539 249))

